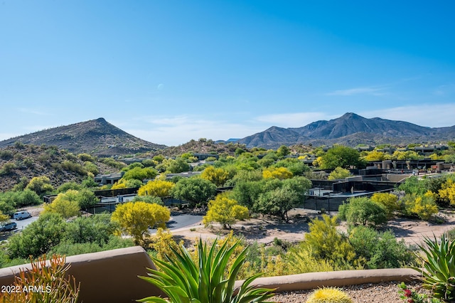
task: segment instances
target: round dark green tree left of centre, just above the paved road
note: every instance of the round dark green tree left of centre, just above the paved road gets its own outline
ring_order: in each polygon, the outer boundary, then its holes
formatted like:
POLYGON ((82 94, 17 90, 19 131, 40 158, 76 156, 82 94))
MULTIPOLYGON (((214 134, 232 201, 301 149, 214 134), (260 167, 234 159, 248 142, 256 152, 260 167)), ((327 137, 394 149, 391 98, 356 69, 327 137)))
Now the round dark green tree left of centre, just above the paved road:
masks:
POLYGON ((215 193, 215 184, 201 178, 181 179, 171 191, 174 198, 188 201, 191 207, 198 204, 206 205, 215 193))

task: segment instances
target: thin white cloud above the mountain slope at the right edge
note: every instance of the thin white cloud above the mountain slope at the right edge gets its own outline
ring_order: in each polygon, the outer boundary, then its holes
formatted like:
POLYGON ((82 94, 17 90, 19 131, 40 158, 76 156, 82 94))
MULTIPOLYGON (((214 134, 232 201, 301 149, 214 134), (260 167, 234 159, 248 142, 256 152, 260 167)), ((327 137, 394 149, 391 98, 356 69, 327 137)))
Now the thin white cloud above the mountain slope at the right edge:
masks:
POLYGON ((382 119, 411 122, 424 127, 451 127, 454 121, 455 103, 424 104, 392 107, 384 110, 358 112, 365 118, 380 117, 382 119))

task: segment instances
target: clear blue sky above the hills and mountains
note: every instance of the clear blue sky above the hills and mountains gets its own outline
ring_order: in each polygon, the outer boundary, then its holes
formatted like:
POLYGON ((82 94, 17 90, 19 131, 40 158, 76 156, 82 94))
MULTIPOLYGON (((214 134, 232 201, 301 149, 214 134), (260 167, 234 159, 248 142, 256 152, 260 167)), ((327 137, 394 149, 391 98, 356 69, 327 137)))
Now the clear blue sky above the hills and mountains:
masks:
POLYGON ((455 124, 453 1, 0 0, 0 139, 104 117, 150 142, 346 112, 455 124))

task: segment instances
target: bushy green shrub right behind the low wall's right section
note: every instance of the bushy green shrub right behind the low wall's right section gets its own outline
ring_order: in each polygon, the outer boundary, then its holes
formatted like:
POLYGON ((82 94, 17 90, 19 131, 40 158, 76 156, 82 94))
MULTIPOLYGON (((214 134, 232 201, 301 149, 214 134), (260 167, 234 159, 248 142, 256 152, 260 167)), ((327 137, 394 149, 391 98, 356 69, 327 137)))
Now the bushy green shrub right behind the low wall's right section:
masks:
POLYGON ((414 262, 414 255, 405 241, 397 241, 390 230, 378 232, 358 226, 350 230, 349 242, 358 259, 365 260, 368 269, 400 268, 414 262))

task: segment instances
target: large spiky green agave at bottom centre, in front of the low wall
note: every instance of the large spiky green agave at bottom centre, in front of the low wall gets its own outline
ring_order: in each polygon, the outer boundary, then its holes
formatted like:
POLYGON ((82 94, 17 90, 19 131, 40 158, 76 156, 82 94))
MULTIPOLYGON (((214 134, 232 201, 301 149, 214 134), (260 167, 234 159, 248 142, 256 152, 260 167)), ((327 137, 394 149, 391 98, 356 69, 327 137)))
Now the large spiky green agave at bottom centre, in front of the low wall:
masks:
POLYGON ((198 242, 198 264, 183 245, 178 250, 172 249, 174 255, 166 255, 165 260, 152 257, 155 265, 161 269, 149 270, 149 277, 140 277, 156 285, 167 298, 146 297, 138 302, 156 303, 247 303, 266 302, 273 297, 274 289, 257 288, 251 282, 262 274, 247 278, 237 289, 234 287, 237 274, 245 262, 247 248, 235 258, 232 266, 228 262, 240 240, 232 246, 228 241, 215 252, 217 241, 208 249, 207 243, 198 242))

